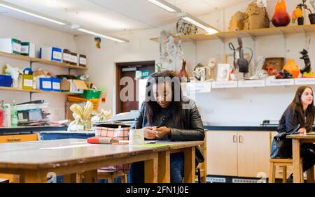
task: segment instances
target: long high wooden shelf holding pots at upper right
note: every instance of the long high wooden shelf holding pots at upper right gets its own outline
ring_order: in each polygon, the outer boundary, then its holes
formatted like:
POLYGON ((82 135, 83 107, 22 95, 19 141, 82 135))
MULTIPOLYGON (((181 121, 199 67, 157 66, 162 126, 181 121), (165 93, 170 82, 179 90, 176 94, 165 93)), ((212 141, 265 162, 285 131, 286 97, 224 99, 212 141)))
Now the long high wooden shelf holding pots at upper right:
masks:
MULTIPOLYGON (((255 38, 258 36, 272 36, 272 35, 286 35, 286 34, 299 34, 299 33, 307 33, 307 32, 315 32, 315 24, 307 24, 307 25, 294 25, 288 27, 271 27, 264 29, 251 29, 245 31, 225 31, 219 32, 217 34, 195 34, 195 35, 183 35, 182 41, 210 41, 210 40, 221 40, 231 39, 231 38, 255 38)), ((178 36, 177 36, 178 37, 178 36)), ((176 38, 176 36, 175 36, 176 38)), ((159 42, 159 38, 150 38, 151 41, 159 42)))

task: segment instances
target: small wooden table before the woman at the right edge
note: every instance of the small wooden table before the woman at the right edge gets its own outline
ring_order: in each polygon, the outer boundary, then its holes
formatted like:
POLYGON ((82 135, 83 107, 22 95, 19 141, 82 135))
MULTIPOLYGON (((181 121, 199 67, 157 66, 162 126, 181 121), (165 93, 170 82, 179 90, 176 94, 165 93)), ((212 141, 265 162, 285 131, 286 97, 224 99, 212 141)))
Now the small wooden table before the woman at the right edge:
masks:
POLYGON ((293 151, 293 182, 302 183, 304 182, 303 172, 300 167, 300 144, 301 143, 315 143, 314 135, 288 135, 286 138, 292 139, 292 151, 293 151))

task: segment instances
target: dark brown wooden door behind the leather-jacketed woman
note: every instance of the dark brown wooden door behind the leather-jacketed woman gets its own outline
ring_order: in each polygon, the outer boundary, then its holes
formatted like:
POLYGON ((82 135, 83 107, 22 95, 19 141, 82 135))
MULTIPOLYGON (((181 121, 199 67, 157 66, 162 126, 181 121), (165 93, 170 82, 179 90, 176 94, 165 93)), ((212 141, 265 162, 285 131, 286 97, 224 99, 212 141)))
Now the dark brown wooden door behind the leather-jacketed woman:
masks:
POLYGON ((121 112, 130 112, 131 110, 139 110, 139 102, 137 101, 138 86, 135 80, 136 71, 155 71, 155 61, 139 61, 129 63, 117 63, 116 64, 116 114, 121 112), (125 92, 125 96, 132 98, 132 101, 122 101, 120 99, 121 90, 129 85, 127 82, 125 85, 120 85, 120 80, 124 77, 132 79, 133 94, 131 92, 125 92))

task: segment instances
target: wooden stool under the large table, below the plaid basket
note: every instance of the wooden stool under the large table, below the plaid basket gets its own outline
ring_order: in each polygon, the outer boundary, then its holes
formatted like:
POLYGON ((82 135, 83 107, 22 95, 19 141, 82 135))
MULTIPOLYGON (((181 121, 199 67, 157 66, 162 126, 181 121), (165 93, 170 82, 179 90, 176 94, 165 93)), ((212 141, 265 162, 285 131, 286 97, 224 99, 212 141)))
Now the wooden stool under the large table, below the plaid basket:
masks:
MULTIPOLYGON (((117 171, 117 170, 97 170, 97 179, 104 179, 109 180, 109 183, 113 183, 113 180, 116 177, 122 177, 122 182, 127 183, 127 174, 117 171)), ((78 173, 77 174, 77 183, 80 183, 81 180, 84 178, 84 173, 78 173)))

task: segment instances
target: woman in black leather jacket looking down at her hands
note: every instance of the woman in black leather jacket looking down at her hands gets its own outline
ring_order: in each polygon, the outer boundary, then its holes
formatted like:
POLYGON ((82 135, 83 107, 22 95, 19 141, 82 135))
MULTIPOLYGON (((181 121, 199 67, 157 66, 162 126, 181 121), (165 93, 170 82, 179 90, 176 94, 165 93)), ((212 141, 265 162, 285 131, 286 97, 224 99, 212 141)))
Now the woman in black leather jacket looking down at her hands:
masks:
MULTIPOLYGON (((182 95, 179 78, 172 71, 153 73, 148 78, 146 101, 141 105, 134 128, 144 129, 147 140, 204 140, 202 119, 195 102, 182 95)), ((181 183, 183 153, 171 154, 170 163, 171 182, 181 183)), ((129 182, 144 182, 143 161, 132 163, 129 182)))

